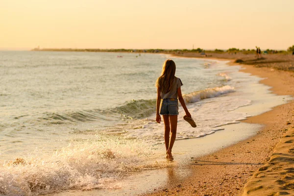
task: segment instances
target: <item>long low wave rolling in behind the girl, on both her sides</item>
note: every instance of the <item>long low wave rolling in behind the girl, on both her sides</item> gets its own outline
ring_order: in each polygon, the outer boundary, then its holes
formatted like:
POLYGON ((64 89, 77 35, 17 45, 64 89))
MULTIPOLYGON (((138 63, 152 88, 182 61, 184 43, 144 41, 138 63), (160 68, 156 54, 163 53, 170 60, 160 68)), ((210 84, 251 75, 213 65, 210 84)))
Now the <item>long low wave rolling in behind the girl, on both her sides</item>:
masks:
MULTIPOLYGON (((186 103, 193 103, 205 98, 214 98, 223 94, 234 92, 231 86, 223 86, 196 91, 190 94, 183 95, 186 103)), ((44 120, 49 120, 52 124, 61 124, 66 122, 89 122, 103 120, 108 121, 114 117, 123 119, 141 119, 147 118, 155 112, 156 99, 138 99, 125 102, 123 105, 105 109, 105 110, 83 110, 69 114, 47 114, 44 120)))

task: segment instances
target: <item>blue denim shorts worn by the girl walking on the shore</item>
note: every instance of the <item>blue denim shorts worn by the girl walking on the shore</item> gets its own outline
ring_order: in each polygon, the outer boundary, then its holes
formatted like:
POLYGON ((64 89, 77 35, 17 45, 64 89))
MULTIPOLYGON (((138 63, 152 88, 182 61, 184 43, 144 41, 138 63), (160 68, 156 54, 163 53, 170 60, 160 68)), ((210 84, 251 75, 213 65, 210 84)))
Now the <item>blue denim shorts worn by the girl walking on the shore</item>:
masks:
POLYGON ((179 104, 177 98, 161 99, 160 113, 161 115, 179 115, 179 104))

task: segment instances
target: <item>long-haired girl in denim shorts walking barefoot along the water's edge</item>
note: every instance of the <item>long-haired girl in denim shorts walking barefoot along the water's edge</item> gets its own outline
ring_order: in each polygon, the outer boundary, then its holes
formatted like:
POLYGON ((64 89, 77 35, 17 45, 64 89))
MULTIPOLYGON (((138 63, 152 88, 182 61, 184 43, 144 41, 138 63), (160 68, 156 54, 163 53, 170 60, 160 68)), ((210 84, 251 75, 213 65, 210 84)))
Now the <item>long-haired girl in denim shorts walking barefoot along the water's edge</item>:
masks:
POLYGON ((178 100, 180 101, 186 116, 191 118, 185 101, 182 97, 180 78, 175 77, 175 63, 168 59, 164 62, 161 76, 156 80, 157 100, 156 100, 156 122, 161 122, 160 114, 163 115, 164 122, 164 142, 166 147, 166 158, 172 161, 172 146, 175 141, 178 100), (171 137, 170 137, 171 132, 171 137))

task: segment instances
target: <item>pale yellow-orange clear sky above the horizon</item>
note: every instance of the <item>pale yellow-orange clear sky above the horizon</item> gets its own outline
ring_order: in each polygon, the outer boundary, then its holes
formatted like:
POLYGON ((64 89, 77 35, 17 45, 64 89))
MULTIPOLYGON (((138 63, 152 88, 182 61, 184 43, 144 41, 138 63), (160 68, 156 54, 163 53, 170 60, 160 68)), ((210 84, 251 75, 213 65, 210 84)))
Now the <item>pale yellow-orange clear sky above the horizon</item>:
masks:
POLYGON ((294 0, 0 0, 0 49, 288 49, 294 0))

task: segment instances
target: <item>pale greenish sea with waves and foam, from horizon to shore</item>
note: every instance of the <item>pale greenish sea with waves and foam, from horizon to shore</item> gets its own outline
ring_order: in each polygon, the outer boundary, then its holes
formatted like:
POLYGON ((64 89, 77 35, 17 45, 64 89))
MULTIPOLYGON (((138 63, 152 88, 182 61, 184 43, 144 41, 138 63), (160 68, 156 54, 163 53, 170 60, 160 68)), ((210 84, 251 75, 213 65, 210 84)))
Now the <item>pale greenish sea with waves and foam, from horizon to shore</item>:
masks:
MULTIPOLYGON (((208 138, 208 148, 209 135, 290 99, 272 94, 259 83, 262 78, 227 61, 135 52, 0 51, 0 195, 111 193, 127 188, 130 175, 172 167, 162 150, 164 124, 155 122, 155 81, 166 59, 176 64, 197 124, 193 128, 183 120, 180 106, 178 142, 208 138)), ((186 156, 173 151, 174 162, 185 164, 197 149, 186 156)))

